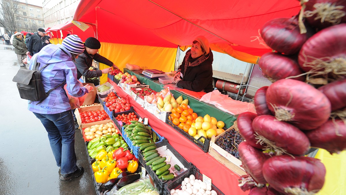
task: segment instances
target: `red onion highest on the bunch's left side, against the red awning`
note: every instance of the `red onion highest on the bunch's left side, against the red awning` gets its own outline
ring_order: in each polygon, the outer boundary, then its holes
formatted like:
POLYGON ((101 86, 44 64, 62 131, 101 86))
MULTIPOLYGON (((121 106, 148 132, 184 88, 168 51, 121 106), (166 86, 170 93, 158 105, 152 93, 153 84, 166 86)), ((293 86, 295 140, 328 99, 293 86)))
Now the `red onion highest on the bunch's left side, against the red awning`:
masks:
POLYGON ((313 34, 307 28, 307 33, 300 34, 298 17, 275 18, 266 22, 261 30, 265 43, 273 50, 287 55, 298 53, 303 43, 313 34))

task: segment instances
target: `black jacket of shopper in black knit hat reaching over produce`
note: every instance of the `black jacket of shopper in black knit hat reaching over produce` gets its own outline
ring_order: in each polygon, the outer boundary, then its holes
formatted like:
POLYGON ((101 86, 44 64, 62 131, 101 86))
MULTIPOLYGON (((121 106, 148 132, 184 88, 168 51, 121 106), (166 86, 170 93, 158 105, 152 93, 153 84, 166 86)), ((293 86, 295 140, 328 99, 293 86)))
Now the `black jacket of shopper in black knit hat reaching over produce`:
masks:
POLYGON ((94 55, 92 55, 86 52, 86 50, 84 50, 84 52, 80 54, 78 58, 76 58, 74 61, 74 64, 77 67, 77 79, 80 79, 82 75, 85 78, 94 78, 102 76, 101 70, 89 70, 89 68, 92 66, 93 59, 97 62, 104 63, 107 66, 113 65, 113 62, 101 56, 100 54, 95 53, 94 55))

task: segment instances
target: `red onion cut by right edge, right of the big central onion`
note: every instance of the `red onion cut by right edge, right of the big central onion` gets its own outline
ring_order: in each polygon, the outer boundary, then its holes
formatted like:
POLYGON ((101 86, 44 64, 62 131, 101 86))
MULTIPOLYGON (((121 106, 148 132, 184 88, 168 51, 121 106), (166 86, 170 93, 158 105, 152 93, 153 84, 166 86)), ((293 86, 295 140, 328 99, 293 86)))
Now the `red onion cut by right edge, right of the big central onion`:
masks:
POLYGON ((346 107, 346 78, 324 85, 318 90, 327 96, 332 112, 346 107))

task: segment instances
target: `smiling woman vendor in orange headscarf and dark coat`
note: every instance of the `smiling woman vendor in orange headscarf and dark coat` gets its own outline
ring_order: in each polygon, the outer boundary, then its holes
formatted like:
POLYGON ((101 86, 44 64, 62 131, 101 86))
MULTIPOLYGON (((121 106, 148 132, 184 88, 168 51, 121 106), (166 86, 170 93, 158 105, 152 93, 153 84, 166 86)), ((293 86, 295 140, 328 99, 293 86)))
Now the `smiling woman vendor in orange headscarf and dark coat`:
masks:
POLYGON ((174 75, 176 86, 195 92, 213 91, 213 60, 209 41, 204 36, 196 37, 174 75))

